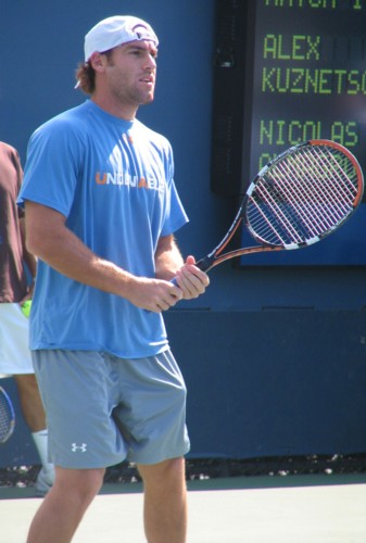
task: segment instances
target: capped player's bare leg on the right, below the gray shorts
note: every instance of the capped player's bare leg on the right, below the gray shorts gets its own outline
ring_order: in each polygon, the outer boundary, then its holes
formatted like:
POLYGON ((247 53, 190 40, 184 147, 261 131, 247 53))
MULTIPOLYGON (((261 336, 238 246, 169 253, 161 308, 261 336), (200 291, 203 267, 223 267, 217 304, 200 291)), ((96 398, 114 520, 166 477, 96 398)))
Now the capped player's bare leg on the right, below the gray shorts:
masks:
POLYGON ((138 465, 144 488, 144 531, 149 543, 184 543, 187 533, 185 459, 138 465))

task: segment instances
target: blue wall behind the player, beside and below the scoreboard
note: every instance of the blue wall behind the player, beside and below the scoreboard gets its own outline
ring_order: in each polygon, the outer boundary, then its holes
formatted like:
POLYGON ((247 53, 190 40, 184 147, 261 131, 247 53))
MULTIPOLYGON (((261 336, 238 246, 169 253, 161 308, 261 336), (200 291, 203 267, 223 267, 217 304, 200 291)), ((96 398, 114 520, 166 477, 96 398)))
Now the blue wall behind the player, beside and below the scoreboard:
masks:
MULTIPOLYGON (((2 0, 0 139, 25 162, 33 130, 84 100, 73 87, 88 29, 116 13, 150 21, 161 40, 156 99, 139 117, 174 146, 176 184, 191 219, 178 241, 184 254, 202 256, 235 209, 210 189, 214 4, 2 0)), ((262 266, 253 258, 241 269, 219 266, 204 296, 166 315, 189 388, 192 455, 365 451, 365 269, 262 266)), ((5 386, 16 401, 13 383, 5 386)), ((34 462, 20 421, 0 465, 34 462)))

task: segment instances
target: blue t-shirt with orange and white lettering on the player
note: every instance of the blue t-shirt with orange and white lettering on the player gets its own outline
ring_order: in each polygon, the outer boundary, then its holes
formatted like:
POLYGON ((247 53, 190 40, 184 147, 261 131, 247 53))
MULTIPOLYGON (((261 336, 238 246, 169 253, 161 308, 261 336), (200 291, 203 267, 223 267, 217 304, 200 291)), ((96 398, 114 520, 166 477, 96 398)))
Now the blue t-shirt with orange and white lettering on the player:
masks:
MULTIPOLYGON (((166 138, 88 100, 31 136, 18 203, 30 200, 56 210, 98 256, 137 276, 154 277, 159 238, 188 220, 173 175, 166 138)), ((167 338, 161 314, 74 281, 39 261, 30 349, 140 358, 167 349, 167 338)))

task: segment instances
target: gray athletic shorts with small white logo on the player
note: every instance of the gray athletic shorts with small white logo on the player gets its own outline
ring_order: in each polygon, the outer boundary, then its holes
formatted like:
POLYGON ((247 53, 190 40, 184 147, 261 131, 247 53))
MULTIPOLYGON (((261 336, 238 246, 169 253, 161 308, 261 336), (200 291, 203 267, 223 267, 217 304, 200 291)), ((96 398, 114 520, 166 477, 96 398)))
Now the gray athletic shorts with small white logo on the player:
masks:
POLYGON ((157 464, 189 451, 187 390, 171 351, 138 359, 34 351, 33 362, 55 466, 157 464))

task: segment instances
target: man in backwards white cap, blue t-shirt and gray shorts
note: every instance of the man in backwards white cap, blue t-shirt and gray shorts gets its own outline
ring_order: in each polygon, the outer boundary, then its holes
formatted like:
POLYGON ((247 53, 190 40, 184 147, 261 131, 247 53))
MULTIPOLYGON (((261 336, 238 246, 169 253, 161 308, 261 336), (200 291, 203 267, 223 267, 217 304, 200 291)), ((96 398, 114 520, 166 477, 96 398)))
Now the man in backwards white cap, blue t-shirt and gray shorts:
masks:
POLYGON ((157 43, 136 17, 97 24, 77 72, 90 100, 29 142, 20 203, 39 257, 30 349, 56 477, 28 543, 71 541, 105 467, 124 458, 143 480, 148 541, 186 539, 186 387, 162 312, 209 277, 175 243, 187 216, 171 146, 136 118, 154 98, 157 43))

